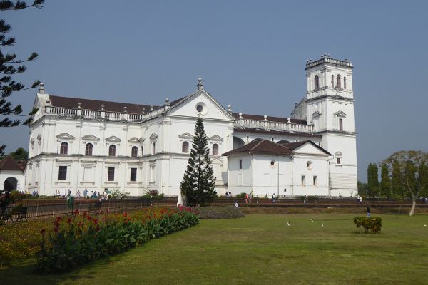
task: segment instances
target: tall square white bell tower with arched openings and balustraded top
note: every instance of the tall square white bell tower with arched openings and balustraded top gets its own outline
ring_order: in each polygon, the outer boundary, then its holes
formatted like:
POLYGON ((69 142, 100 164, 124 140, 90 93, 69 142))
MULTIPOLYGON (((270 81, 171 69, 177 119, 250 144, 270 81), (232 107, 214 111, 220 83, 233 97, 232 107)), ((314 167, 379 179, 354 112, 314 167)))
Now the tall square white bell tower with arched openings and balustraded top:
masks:
POLYGON ((322 55, 306 62, 306 114, 329 160, 330 195, 357 195, 357 146, 350 61, 322 55))

